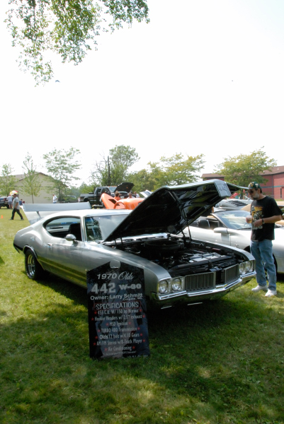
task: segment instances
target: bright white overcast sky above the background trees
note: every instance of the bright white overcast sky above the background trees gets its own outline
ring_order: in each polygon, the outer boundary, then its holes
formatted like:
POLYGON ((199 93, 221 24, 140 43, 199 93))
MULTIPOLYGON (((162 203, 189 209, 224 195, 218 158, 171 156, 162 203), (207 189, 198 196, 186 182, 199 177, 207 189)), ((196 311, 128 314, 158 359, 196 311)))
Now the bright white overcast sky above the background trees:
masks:
POLYGON ((150 23, 98 37, 79 66, 54 58, 35 87, 18 69, 0 4, 0 167, 23 172, 27 153, 78 148, 76 184, 110 148, 135 148, 131 170, 175 153, 214 172, 229 156, 263 148, 284 165, 284 1, 148 0, 150 23), (59 83, 55 83, 59 80, 59 83))

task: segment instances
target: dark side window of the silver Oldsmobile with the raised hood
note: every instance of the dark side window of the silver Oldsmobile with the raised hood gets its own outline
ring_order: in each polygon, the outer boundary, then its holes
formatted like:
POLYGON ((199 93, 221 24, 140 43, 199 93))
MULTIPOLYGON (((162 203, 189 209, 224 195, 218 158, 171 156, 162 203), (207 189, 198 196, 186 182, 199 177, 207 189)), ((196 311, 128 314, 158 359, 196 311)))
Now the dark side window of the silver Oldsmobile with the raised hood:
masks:
POLYGON ((80 218, 62 216, 47 222, 45 230, 52 237, 65 238, 67 234, 73 234, 76 240, 82 240, 80 218))

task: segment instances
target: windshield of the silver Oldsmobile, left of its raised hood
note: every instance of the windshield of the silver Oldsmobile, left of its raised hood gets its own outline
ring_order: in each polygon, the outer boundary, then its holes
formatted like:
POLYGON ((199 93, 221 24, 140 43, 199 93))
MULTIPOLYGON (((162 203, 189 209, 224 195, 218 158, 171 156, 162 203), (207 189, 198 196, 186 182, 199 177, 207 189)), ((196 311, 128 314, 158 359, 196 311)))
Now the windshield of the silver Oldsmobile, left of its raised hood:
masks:
POLYGON ((85 218, 86 237, 88 242, 105 240, 110 232, 127 217, 125 214, 115 213, 108 216, 88 216, 85 218))

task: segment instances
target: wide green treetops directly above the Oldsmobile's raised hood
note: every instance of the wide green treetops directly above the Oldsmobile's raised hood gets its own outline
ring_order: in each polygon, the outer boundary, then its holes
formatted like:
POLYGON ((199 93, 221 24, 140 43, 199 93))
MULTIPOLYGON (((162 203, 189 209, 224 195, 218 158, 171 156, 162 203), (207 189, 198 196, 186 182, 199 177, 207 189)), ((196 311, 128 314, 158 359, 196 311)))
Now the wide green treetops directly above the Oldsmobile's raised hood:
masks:
POLYGON ((204 155, 184 157, 176 153, 170 158, 162 156, 160 162, 149 162, 148 170, 133 172, 127 178, 135 183, 136 191, 151 192, 164 185, 180 185, 197 180, 196 173, 203 167, 204 155))

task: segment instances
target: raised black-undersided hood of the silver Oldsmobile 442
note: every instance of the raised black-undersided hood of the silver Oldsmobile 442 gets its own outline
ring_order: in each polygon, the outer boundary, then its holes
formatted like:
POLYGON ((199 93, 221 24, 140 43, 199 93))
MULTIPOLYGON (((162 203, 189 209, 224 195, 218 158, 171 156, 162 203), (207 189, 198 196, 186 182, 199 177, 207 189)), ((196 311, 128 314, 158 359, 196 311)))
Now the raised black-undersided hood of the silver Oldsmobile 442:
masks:
POLYGON ((220 179, 161 187, 144 199, 104 241, 159 232, 178 234, 236 189, 239 187, 220 179))

